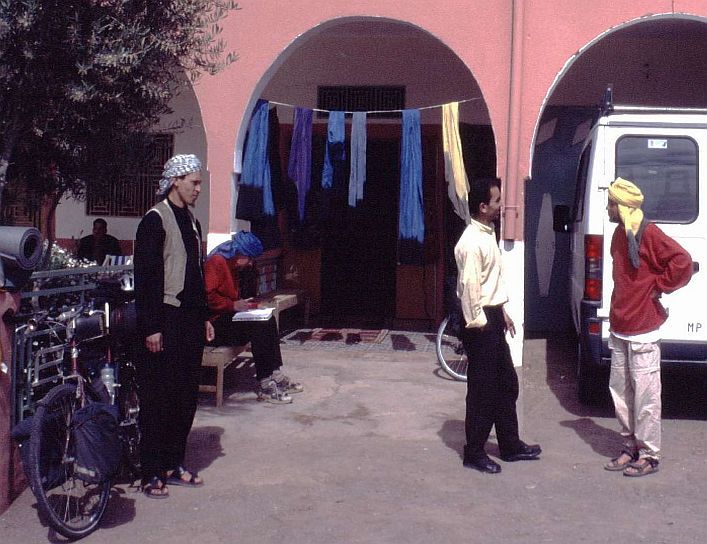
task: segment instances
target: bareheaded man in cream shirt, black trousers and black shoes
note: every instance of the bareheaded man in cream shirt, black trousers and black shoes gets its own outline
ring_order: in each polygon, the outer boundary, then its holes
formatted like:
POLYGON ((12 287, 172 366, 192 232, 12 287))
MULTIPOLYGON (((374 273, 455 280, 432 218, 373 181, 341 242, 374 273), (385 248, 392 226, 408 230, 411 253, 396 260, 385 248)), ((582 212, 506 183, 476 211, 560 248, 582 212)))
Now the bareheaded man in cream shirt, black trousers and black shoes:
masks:
POLYGON ((501 181, 481 178, 470 185, 471 223, 454 248, 457 296, 466 324, 461 340, 471 361, 467 372, 463 463, 465 467, 495 474, 501 472, 501 466, 485 450, 493 426, 504 461, 536 459, 542 450, 518 436, 518 376, 506 342, 506 332, 515 335, 515 326, 503 308, 508 296, 494 228, 501 212, 501 181))

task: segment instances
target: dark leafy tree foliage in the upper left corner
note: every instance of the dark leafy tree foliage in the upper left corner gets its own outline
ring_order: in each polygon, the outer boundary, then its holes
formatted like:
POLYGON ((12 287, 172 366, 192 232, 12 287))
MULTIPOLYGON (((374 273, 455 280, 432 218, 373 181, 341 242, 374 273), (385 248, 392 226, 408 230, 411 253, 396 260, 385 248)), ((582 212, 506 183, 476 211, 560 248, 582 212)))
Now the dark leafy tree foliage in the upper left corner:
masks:
POLYGON ((58 201, 119 174, 126 143, 170 112, 183 74, 194 82, 235 60, 219 27, 234 9, 233 0, 0 0, 0 205, 8 180, 58 201))

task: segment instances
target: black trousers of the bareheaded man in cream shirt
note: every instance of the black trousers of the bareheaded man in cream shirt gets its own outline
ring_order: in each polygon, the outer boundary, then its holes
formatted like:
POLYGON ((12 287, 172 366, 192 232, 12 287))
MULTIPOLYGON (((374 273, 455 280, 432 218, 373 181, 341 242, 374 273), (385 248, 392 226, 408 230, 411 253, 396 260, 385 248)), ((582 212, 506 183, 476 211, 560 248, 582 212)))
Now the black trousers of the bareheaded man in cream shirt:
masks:
POLYGON ((484 446, 496 426, 501 455, 515 453, 518 438, 518 375, 506 342, 501 306, 484 307, 488 323, 483 328, 464 328, 461 340, 469 356, 466 394, 465 459, 486 455, 484 446))

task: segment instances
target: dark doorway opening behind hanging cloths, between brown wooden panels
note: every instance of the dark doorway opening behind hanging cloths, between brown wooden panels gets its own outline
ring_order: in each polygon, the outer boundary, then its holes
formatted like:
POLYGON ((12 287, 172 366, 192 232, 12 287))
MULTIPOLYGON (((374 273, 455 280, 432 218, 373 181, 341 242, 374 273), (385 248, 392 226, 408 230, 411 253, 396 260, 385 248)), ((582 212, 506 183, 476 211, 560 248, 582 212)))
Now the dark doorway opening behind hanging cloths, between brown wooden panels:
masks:
POLYGON ((322 236, 323 326, 387 328, 394 317, 399 156, 397 139, 369 138, 363 201, 348 206, 346 187, 332 202, 322 236))

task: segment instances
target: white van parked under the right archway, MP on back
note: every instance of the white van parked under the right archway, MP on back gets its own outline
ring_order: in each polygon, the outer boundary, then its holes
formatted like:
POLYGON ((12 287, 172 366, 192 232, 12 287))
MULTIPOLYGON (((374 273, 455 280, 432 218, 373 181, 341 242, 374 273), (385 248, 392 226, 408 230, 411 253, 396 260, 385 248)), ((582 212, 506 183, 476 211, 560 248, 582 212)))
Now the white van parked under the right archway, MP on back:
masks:
POLYGON ((572 315, 579 338, 579 397, 605 395, 613 281, 609 246, 616 228, 606 212, 617 177, 644 194, 645 217, 690 252, 690 283, 663 295, 663 364, 707 363, 707 110, 618 106, 607 89, 579 160, 574 203, 556 206, 554 228, 569 232, 572 315), (605 369, 602 371, 602 367, 605 369))

